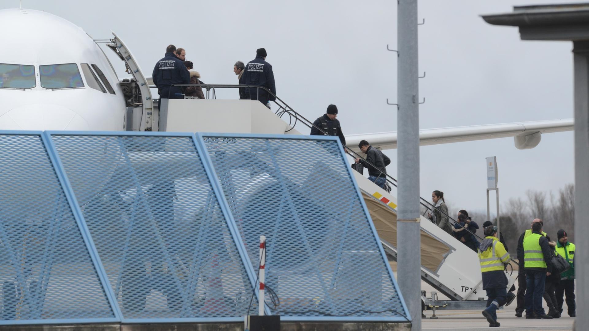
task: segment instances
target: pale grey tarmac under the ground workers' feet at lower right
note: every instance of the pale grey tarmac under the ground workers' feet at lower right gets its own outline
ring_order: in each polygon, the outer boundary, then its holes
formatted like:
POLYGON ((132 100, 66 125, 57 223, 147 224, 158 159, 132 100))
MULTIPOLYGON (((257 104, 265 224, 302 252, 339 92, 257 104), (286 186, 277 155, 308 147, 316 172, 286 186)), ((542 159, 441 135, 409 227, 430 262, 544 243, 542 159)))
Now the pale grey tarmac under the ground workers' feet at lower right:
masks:
MULTIPOLYGON (((517 270, 513 272, 513 277, 517 276, 517 270)), ((515 282, 517 287, 517 282, 515 282)), ((421 282, 421 289, 429 293, 434 290, 429 284, 421 282)), ((438 293, 440 300, 445 300, 443 294, 438 293)), ((544 302, 544 301, 543 301, 544 302)), ((425 318, 421 319, 423 330, 572 330, 574 317, 567 315, 567 303, 564 303, 564 314, 559 319, 525 319, 525 317, 515 317, 515 306, 517 303, 512 302, 504 309, 497 310, 497 322, 501 323, 500 327, 489 327, 489 322, 481 314, 481 310, 436 310, 438 319, 431 319, 433 315, 431 310, 425 310, 425 318)), ((544 309, 548 312, 546 302, 544 309)))

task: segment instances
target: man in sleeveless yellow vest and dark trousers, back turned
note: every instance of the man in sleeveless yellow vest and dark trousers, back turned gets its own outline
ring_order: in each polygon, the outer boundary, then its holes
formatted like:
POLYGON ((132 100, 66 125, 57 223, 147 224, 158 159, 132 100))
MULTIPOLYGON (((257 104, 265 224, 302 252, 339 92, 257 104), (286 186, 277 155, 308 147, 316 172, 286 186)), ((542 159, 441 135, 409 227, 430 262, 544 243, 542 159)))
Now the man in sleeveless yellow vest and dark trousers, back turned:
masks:
POLYGON ((524 239, 525 318, 552 319, 542 307, 546 276, 552 273, 552 251, 542 235, 542 223, 532 223, 531 234, 524 239))

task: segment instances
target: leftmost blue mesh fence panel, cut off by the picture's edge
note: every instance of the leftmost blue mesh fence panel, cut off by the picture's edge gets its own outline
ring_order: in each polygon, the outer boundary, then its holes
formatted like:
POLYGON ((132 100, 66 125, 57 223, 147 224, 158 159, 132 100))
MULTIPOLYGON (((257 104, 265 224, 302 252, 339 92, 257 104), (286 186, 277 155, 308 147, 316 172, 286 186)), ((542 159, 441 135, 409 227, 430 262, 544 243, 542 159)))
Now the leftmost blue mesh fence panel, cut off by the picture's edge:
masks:
POLYGON ((41 135, 0 158, 0 324, 116 320, 41 135))

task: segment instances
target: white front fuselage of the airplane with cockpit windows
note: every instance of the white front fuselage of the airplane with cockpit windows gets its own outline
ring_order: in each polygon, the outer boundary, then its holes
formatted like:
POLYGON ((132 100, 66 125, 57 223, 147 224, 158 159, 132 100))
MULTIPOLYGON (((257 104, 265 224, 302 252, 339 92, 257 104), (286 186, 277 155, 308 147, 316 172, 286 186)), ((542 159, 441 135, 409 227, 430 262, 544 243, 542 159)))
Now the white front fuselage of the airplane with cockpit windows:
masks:
POLYGON ((46 12, 4 9, 0 31, 0 130, 124 129, 117 75, 80 27, 46 12))

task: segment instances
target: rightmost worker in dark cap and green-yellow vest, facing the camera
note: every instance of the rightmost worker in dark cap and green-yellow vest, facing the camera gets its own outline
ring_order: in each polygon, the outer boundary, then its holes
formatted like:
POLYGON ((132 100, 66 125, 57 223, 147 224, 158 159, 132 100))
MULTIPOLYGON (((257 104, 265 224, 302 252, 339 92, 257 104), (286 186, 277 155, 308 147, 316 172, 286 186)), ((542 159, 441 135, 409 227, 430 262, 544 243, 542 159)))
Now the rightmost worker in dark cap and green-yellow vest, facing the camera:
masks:
POLYGON ((558 230, 556 252, 564 257, 571 268, 560 274, 560 283, 556 288, 557 310, 562 314, 562 297, 567 294, 568 316, 577 317, 575 305, 575 244, 568 242, 567 232, 558 230))

